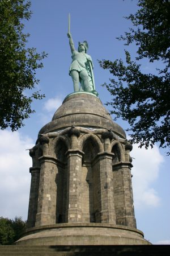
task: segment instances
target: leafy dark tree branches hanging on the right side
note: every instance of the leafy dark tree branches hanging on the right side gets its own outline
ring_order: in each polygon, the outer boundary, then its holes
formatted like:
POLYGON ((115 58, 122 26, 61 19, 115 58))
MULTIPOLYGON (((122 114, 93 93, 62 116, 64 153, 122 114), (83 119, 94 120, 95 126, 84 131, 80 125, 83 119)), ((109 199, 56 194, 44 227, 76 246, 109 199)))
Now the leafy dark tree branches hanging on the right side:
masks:
POLYGON ((136 44, 135 60, 125 50, 125 63, 122 59, 99 63, 114 76, 110 84, 104 84, 113 96, 113 101, 107 104, 113 107, 114 119, 122 117, 129 122, 131 142, 146 148, 158 142, 159 147, 165 148, 170 146, 170 3, 138 0, 138 6, 137 13, 126 17, 133 27, 118 38, 125 41, 125 46, 136 44), (140 64, 143 58, 162 68, 155 73, 143 73, 140 64))

